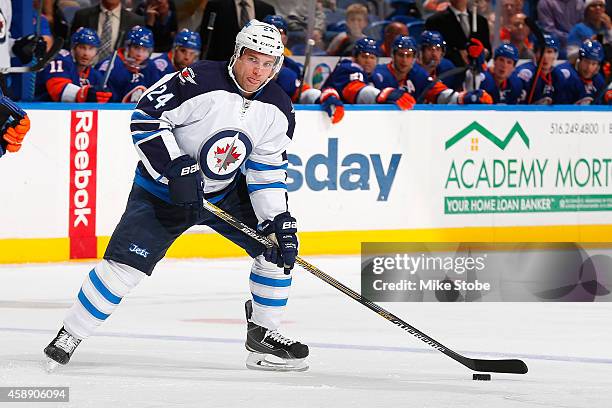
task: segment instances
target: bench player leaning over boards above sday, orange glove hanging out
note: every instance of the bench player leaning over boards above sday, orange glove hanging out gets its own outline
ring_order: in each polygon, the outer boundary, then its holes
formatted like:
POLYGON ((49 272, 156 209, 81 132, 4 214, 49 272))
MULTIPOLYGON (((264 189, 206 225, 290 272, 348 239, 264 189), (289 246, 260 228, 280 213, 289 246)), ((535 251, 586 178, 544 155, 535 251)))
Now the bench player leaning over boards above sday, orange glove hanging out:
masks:
POLYGON ((375 40, 357 40, 353 58, 341 59, 321 89, 335 89, 346 103, 388 103, 402 110, 412 109, 416 102, 405 90, 391 87, 380 90, 371 84, 370 75, 376 68, 379 53, 375 40))

